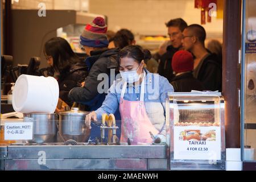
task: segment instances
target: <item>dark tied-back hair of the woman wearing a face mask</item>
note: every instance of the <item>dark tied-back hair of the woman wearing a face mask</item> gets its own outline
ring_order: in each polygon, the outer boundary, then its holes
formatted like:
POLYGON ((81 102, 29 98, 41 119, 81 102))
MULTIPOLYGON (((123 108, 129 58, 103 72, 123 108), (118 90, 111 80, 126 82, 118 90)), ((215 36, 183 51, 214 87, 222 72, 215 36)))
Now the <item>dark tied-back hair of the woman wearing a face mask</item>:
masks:
POLYGON ((118 52, 119 60, 123 57, 130 57, 141 63, 142 60, 150 60, 151 53, 147 49, 142 49, 141 46, 127 46, 118 52))

